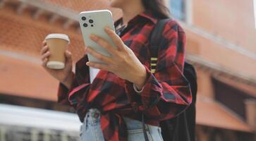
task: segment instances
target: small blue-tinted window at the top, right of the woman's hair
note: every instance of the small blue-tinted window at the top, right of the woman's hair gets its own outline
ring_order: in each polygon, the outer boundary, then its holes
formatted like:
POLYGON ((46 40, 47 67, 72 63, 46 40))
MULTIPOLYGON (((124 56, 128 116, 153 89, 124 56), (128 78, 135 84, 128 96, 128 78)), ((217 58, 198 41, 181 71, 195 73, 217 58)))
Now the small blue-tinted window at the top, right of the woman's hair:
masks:
POLYGON ((185 21, 185 0, 170 0, 170 11, 173 18, 185 21))

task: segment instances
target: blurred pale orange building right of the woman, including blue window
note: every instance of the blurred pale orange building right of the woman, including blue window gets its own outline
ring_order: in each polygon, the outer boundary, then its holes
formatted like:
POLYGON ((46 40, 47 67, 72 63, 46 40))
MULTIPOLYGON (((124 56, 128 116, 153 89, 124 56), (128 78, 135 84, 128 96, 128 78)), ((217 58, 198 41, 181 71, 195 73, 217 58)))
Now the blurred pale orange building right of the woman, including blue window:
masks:
POLYGON ((256 140, 254 1, 168 0, 197 69, 197 140, 256 140))

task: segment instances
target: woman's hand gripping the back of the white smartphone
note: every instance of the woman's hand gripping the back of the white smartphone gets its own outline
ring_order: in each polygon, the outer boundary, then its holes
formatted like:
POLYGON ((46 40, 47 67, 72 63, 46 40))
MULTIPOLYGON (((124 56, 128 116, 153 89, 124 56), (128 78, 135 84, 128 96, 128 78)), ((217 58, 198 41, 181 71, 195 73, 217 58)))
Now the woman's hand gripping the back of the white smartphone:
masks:
POLYGON ((145 66, 140 63, 133 51, 123 44, 121 38, 118 37, 113 30, 106 27, 105 32, 109 35, 109 37, 111 37, 111 39, 113 39, 116 47, 112 47, 109 42, 106 42, 104 39, 97 37, 96 35, 91 35, 90 38, 106 49, 106 51, 109 51, 111 57, 99 54, 91 47, 86 47, 85 50, 89 54, 104 62, 104 64, 102 64, 89 61, 86 63, 86 65, 114 73, 119 78, 133 82, 138 90, 141 90, 147 78, 145 66))

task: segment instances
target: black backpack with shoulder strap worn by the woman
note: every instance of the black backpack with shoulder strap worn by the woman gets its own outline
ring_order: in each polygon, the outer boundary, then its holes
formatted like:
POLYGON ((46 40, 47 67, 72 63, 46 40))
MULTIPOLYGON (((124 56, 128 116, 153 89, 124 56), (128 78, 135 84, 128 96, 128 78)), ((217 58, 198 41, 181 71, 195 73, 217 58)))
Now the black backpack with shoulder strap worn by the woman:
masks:
MULTIPOLYGON (((169 20, 171 19, 159 20, 151 33, 150 53, 151 61, 154 64, 158 56, 159 47, 161 47, 162 44, 161 38, 164 25, 169 20)), ((152 66, 151 68, 152 73, 154 73, 154 67, 155 66, 152 66)), ((188 109, 185 109, 185 111, 176 116, 176 118, 171 118, 169 120, 160 122, 161 135, 164 138, 164 141, 195 141, 195 101, 197 93, 197 75, 195 68, 187 61, 185 61, 184 64, 183 74, 190 83, 193 102, 188 109)), ((144 121, 144 119, 142 120, 144 121)), ((145 140, 148 140, 146 135, 145 140)))

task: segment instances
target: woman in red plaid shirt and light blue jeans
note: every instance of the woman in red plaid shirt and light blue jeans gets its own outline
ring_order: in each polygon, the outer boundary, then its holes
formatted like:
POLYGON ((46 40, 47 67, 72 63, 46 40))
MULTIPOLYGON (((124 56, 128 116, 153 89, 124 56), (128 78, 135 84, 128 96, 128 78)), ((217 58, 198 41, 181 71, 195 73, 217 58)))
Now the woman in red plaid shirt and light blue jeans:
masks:
POLYGON ((153 75, 149 39, 157 21, 169 18, 164 1, 111 0, 110 4, 123 11, 123 18, 115 23, 116 33, 105 29, 117 48, 96 35, 90 38, 112 56, 85 48, 105 64, 90 62, 85 55, 73 73, 72 55, 66 51, 66 68, 51 70, 46 67, 50 53, 44 41, 42 66, 60 81, 58 101, 75 107, 83 122, 81 140, 145 140, 142 112, 147 137, 162 140, 159 121, 175 117, 191 102, 190 87, 182 75, 185 33, 174 20, 165 25, 164 46, 153 75), (101 70, 92 84, 88 66, 101 70))

